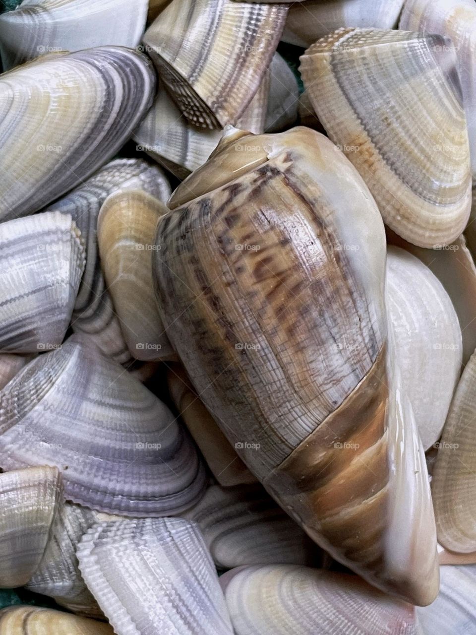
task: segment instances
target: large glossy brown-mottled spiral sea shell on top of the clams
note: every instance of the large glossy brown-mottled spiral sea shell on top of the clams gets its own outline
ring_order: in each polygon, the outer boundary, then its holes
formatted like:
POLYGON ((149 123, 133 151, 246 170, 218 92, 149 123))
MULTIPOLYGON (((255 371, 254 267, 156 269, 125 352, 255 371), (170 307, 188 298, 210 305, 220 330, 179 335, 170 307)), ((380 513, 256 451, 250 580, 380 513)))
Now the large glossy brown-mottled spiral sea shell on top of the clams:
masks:
POLYGON ((307 128, 229 130, 169 207, 155 286, 195 391, 317 544, 431 602, 428 474, 387 356, 385 235, 359 174, 307 128))

